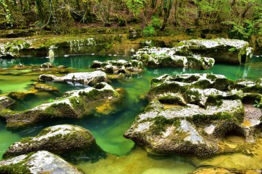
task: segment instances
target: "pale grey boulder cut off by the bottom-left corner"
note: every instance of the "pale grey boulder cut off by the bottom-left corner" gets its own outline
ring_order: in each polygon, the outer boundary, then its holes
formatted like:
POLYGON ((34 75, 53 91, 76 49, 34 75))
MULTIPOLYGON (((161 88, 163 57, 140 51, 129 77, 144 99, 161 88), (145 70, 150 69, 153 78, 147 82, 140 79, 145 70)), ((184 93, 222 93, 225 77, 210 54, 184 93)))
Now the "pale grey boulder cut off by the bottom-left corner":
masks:
POLYGON ((76 166, 48 151, 37 151, 0 161, 0 173, 83 174, 76 166))

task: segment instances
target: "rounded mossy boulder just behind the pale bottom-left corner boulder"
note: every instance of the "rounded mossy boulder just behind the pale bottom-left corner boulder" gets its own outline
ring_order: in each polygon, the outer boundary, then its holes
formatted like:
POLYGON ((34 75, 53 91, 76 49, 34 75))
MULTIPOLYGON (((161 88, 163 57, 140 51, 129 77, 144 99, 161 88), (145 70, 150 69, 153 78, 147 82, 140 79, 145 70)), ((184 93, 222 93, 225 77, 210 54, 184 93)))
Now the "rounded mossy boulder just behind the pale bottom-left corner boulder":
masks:
POLYGON ((12 144, 3 157, 27 154, 32 151, 50 151, 55 154, 76 153, 99 149, 92 134, 82 127, 62 124, 43 129, 37 136, 22 138, 12 144))

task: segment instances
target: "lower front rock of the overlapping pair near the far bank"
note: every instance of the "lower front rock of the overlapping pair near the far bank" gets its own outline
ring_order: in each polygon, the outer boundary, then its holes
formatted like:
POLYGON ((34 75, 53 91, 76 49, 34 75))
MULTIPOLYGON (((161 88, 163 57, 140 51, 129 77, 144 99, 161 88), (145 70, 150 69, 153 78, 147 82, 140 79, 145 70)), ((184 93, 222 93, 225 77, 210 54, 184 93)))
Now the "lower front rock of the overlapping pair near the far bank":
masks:
POLYGON ((214 58, 203 56, 177 56, 176 48, 145 47, 133 56, 148 67, 187 67, 190 69, 210 69, 214 58))

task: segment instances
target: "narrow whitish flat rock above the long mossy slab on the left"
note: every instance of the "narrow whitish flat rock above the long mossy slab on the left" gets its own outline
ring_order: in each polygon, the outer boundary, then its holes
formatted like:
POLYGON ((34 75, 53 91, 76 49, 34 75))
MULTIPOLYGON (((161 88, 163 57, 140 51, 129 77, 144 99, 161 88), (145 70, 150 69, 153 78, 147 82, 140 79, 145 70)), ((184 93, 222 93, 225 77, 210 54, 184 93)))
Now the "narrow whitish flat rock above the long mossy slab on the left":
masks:
POLYGON ((85 85, 94 85, 96 83, 107 82, 105 72, 95 71, 95 72, 77 72, 70 73, 66 76, 54 76, 51 74, 42 74, 39 76, 39 80, 43 81, 55 81, 55 82, 72 82, 81 83, 85 85))

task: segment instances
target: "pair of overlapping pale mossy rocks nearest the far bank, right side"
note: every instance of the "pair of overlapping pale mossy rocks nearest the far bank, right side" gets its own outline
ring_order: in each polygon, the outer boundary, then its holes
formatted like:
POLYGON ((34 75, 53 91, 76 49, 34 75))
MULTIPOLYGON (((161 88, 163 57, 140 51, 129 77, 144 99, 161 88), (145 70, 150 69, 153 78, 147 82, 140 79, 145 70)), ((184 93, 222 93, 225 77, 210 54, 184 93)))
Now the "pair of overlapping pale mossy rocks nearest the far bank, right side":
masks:
POLYGON ((187 67, 210 69, 216 62, 246 63, 252 57, 249 43, 234 39, 188 40, 177 47, 145 47, 134 54, 134 59, 149 67, 187 67))

